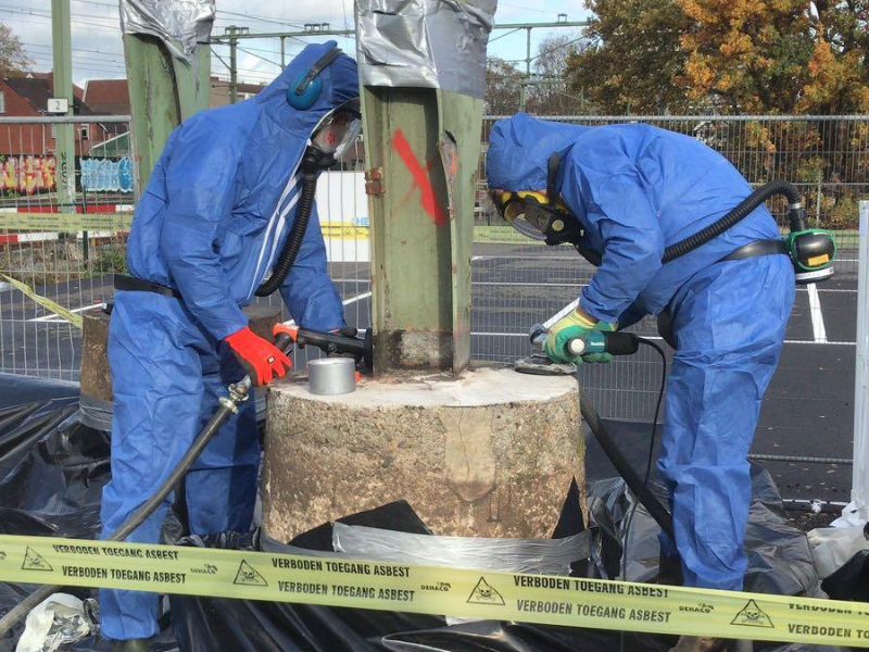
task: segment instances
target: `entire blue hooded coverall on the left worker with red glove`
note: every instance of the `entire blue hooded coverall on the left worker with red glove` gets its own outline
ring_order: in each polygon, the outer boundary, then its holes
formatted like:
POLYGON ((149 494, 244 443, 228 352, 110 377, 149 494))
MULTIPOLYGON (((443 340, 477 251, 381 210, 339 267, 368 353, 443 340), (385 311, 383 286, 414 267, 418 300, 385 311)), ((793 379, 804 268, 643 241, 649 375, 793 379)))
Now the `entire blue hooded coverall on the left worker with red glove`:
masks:
MULTIPOLYGON (((323 88, 311 109, 287 103, 290 82, 335 45, 306 47, 255 98, 185 121, 154 167, 133 222, 129 269, 184 299, 115 294, 109 328, 112 480, 103 489, 103 536, 153 493, 226 386, 244 376, 223 339, 248 325, 241 306, 284 247, 301 190, 298 167, 314 127, 358 97, 356 63, 341 55, 319 74, 323 88)), ((319 330, 344 325, 314 213, 280 291, 298 324, 319 330)), ((255 405, 247 401, 187 475, 190 530, 250 529, 259 465, 255 405)), ((158 542, 167 506, 127 540, 158 542)), ((103 590, 100 602, 108 638, 158 632, 156 594, 103 590)))

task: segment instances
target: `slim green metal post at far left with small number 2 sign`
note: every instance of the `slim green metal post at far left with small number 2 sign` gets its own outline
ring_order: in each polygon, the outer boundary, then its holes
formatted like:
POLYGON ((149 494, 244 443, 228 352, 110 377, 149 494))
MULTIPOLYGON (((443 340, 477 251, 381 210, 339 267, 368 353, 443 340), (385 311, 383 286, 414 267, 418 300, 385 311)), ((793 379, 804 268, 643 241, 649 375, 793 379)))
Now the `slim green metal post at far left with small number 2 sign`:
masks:
MULTIPOLYGON (((54 57, 53 97, 66 98, 73 115, 73 47, 71 35, 70 0, 51 0, 51 34, 54 57)), ((58 203, 71 206, 75 203, 75 125, 55 125, 55 151, 58 164, 58 203)))

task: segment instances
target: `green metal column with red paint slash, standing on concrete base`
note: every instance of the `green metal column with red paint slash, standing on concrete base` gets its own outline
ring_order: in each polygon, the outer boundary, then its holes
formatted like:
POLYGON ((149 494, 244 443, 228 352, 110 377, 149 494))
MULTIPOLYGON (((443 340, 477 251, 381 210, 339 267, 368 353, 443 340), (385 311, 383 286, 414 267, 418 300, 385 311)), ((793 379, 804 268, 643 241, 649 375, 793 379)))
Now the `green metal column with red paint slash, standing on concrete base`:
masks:
POLYGON ((458 374, 470 360, 482 108, 437 89, 363 88, 377 374, 458 374))

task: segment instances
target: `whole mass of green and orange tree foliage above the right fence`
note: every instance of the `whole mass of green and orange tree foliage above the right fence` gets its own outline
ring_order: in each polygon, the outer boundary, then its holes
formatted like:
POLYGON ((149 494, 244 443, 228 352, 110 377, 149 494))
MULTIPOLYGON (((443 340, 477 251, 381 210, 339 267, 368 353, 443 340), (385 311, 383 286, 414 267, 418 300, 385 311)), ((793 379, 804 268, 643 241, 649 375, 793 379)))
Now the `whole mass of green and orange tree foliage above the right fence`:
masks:
POLYGON ((605 111, 869 110, 869 0, 588 0, 569 75, 605 111))

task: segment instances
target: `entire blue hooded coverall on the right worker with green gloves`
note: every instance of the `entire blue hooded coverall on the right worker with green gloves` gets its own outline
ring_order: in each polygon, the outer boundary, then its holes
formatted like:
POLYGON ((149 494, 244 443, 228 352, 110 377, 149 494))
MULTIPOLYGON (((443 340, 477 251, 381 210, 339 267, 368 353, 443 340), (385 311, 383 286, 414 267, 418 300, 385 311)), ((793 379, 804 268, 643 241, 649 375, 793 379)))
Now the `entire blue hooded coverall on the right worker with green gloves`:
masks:
MULTIPOLYGON (((711 224, 751 193, 720 154, 642 124, 583 127, 519 113, 495 123, 490 188, 557 190, 603 255, 580 305, 624 328, 669 309, 677 341, 658 468, 670 491, 685 586, 742 590, 751 479, 746 455, 779 361, 794 299, 785 255, 718 262, 754 240, 780 238, 763 205, 666 265, 665 247, 711 224)), ((672 543, 663 541, 665 552, 672 543)))

